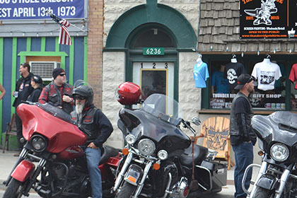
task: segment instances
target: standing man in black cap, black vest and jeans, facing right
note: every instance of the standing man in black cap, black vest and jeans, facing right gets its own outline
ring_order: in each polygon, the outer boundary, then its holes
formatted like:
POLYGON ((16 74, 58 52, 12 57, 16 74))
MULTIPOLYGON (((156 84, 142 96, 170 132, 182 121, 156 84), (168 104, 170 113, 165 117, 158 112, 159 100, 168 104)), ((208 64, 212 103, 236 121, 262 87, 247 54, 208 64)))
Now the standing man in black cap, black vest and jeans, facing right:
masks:
MULTIPOLYGON (((235 154, 234 185, 235 198, 246 197, 243 192, 241 181, 245 168, 253 161, 252 146, 257 141, 257 136, 252 129, 251 120, 254 113, 248 96, 255 92, 254 78, 248 74, 241 74, 238 77, 238 85, 235 89, 240 91, 233 98, 230 115, 230 139, 235 154)), ((245 188, 250 186, 252 171, 248 173, 245 188)))

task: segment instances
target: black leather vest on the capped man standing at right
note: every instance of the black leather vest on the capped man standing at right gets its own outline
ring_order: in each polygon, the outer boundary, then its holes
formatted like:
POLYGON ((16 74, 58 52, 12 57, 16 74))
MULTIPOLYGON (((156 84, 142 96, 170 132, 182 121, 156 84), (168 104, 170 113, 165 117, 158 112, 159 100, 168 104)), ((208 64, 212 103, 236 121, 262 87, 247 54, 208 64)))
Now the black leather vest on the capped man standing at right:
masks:
POLYGON ((238 98, 240 98, 240 97, 243 97, 246 100, 248 100, 248 104, 250 105, 250 110, 248 112, 248 119, 246 120, 246 124, 248 126, 251 126, 252 116, 254 115, 254 113, 252 112, 252 105, 250 104, 250 100, 248 99, 248 97, 246 95, 244 95, 243 93, 238 92, 235 95, 235 98, 233 98, 232 105, 231 105, 231 113, 230 113, 230 134, 231 135, 235 135, 235 136, 238 136, 238 135, 241 136, 241 135, 243 135, 243 134, 240 134, 240 132, 238 131, 238 124, 236 122, 235 108, 234 108, 235 101, 238 98))

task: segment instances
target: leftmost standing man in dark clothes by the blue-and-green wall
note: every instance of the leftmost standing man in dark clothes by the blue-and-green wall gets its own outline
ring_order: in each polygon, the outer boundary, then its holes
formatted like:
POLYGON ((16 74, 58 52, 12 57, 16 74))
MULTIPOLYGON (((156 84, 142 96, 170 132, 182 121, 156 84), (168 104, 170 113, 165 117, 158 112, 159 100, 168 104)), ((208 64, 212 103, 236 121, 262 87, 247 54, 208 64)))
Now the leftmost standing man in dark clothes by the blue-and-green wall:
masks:
MULTIPOLYGON (((15 98, 13 102, 13 107, 18 107, 22 103, 28 99, 28 96, 33 92, 33 87, 31 86, 31 78, 33 74, 30 73, 30 64, 24 63, 21 64, 20 69, 18 70, 21 74, 21 78, 16 82, 16 90, 13 91, 12 95, 15 98)), ((23 137, 22 133, 22 120, 18 117, 16 113, 16 136, 18 139, 18 151, 21 153, 23 149, 23 144, 20 142, 20 139, 23 137)), ((19 153, 16 153, 14 156, 19 156, 19 153)))

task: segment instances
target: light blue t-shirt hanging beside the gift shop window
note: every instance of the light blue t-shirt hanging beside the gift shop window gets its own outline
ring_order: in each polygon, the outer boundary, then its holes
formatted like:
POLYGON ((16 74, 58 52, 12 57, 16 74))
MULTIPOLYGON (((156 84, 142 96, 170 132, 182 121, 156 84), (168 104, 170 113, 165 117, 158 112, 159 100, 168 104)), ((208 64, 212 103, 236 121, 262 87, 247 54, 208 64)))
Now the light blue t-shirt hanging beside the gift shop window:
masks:
POLYGON ((209 78, 209 69, 207 69, 207 64, 202 62, 202 64, 195 64, 193 71, 194 81, 196 88, 206 88, 205 81, 209 78))

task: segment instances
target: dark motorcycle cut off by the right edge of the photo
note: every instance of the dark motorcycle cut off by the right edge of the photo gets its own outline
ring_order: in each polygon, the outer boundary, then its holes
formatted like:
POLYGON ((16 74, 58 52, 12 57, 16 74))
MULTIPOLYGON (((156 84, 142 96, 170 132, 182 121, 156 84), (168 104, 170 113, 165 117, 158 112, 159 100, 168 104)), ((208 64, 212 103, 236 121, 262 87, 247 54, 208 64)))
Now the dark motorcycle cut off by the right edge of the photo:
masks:
POLYGON ((243 190, 251 198, 297 197, 297 115, 274 112, 252 117, 252 128, 259 139, 262 164, 249 165, 243 176, 243 190), (245 189, 248 172, 260 168, 251 191, 245 189))

